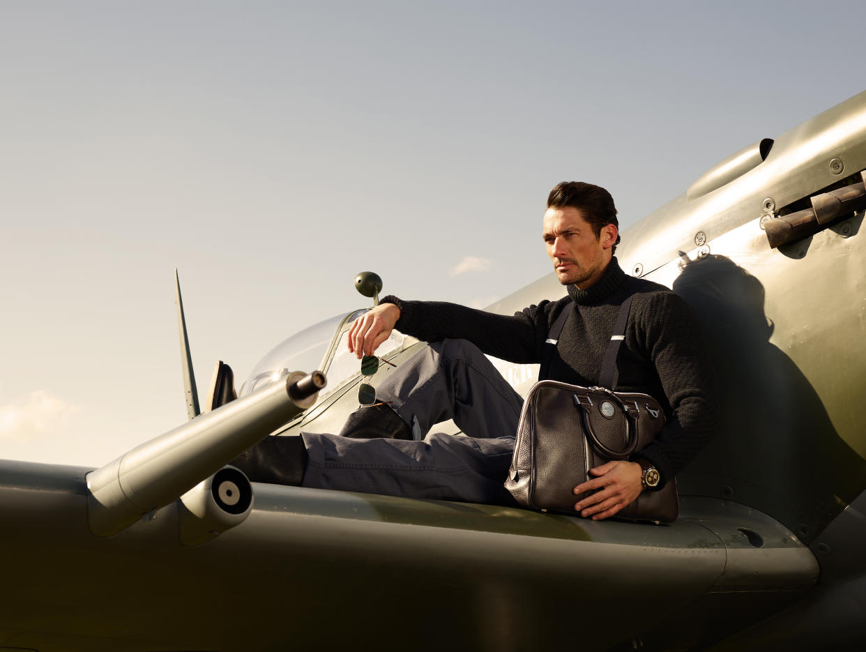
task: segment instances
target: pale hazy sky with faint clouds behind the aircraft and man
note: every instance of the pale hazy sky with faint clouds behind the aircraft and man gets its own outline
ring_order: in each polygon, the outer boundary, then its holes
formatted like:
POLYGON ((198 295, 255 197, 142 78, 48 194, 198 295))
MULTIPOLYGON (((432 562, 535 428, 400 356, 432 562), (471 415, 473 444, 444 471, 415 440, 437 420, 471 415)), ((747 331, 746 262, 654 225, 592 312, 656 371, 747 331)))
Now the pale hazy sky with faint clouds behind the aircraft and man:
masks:
MULTIPOLYGON (((866 5, 0 0, 0 459, 100 466, 384 294, 552 273, 547 192, 621 227, 866 89, 866 5)), ((625 236, 627 236, 627 232, 625 236)), ((311 370, 305 370, 311 371, 311 370)))

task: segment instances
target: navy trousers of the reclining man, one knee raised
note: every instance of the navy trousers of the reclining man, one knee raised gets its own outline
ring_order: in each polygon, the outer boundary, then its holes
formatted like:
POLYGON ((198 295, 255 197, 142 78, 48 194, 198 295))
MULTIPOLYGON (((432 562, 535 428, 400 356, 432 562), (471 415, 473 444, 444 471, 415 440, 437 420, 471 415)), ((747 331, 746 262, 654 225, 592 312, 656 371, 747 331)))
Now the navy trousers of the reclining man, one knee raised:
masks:
POLYGON ((488 358, 462 339, 427 346, 376 390, 421 441, 302 433, 304 487, 408 498, 508 502, 502 488, 523 400, 488 358), (464 435, 429 432, 454 419, 464 435))

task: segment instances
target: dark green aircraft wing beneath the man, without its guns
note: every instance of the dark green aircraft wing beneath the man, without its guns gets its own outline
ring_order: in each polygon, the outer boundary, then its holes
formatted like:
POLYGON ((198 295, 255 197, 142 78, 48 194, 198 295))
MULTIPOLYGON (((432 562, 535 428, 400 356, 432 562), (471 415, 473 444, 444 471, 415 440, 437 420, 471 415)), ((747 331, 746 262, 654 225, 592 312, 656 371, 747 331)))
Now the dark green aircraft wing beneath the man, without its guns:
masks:
POLYGON ((0 462, 0 648, 692 647, 818 577, 785 527, 708 499, 656 526, 254 484, 206 545, 181 542, 179 500, 97 537, 90 470, 0 462))

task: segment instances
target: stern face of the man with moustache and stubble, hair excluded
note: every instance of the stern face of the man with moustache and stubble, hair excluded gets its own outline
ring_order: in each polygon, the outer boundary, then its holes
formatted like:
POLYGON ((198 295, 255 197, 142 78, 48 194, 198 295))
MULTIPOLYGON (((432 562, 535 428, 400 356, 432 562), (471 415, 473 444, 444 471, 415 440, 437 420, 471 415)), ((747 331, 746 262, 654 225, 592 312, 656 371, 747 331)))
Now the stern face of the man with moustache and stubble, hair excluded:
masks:
POLYGON ((578 209, 549 208, 544 214, 544 242, 563 285, 586 289, 601 278, 611 261, 617 227, 605 224, 596 236, 578 209))

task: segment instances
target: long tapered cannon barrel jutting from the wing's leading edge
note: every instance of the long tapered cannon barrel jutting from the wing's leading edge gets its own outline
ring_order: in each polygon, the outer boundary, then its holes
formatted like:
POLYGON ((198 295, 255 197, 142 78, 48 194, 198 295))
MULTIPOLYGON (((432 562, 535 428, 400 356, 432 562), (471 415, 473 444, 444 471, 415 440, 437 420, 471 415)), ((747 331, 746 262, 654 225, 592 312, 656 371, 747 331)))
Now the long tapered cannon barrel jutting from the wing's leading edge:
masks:
POLYGON ((107 537, 164 507, 315 403, 325 375, 289 374, 87 474, 90 531, 107 537))

